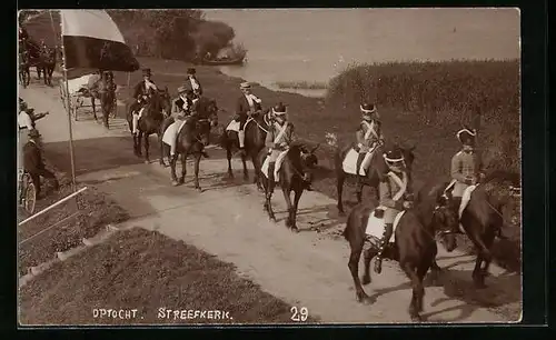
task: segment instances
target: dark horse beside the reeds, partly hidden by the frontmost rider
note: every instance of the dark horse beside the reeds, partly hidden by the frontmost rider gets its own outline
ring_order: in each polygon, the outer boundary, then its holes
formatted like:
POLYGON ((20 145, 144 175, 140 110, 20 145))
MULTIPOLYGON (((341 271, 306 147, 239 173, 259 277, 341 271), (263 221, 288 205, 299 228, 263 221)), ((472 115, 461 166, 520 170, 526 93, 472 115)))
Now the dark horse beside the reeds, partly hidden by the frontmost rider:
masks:
MULTIPOLYGON (((337 148, 335 152, 335 168, 336 168, 336 189, 338 192, 338 212, 340 216, 345 214, 344 211, 344 203, 342 203, 342 191, 344 191, 344 182, 346 181, 346 178, 348 177, 357 177, 356 174, 347 173, 344 170, 344 159, 346 158, 347 153, 351 149, 353 146, 344 147, 344 148, 337 148)), ((404 160, 406 162, 406 167, 409 173, 409 180, 411 180, 411 167, 415 161, 415 146, 411 147, 400 147, 401 152, 404 153, 404 160)), ((375 153, 373 154, 373 158, 370 159, 370 163, 367 168, 366 176, 360 176, 360 182, 357 186, 356 189, 356 194, 357 194, 357 202, 361 202, 361 197, 363 197, 363 188, 364 186, 369 186, 375 189, 375 197, 378 199, 378 184, 380 181, 380 173, 386 173, 388 172, 387 170, 387 164, 384 158, 381 157, 383 152, 385 150, 384 146, 378 146, 375 149, 375 153)))

